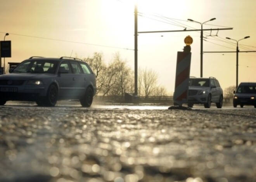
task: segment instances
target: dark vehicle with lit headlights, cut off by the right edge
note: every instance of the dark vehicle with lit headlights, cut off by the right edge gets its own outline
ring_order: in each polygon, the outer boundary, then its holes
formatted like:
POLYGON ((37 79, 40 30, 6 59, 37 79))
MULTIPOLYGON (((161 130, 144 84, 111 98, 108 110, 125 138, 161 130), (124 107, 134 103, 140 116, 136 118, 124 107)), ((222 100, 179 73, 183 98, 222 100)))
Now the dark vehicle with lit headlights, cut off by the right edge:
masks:
POLYGON ((254 105, 256 108, 256 83, 242 82, 234 92, 233 106, 244 107, 244 105, 254 105))

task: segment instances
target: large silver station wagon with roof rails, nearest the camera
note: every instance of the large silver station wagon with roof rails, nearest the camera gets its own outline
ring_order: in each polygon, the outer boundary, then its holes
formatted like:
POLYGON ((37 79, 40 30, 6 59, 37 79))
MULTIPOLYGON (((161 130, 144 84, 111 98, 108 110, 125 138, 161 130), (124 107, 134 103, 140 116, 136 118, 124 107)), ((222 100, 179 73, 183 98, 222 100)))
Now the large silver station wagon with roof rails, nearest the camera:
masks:
POLYGON ((74 99, 80 100, 83 107, 90 107, 96 90, 92 69, 76 58, 33 56, 9 74, 0 75, 0 105, 21 100, 54 106, 57 100, 74 99))

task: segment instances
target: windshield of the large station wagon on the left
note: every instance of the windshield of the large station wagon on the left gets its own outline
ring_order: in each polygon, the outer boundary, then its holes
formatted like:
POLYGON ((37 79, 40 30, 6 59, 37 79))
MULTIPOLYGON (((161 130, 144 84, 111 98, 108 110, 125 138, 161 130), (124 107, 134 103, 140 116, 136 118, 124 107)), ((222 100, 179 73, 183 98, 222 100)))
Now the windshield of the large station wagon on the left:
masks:
POLYGON ((57 61, 26 60, 19 64, 12 73, 55 73, 57 61))

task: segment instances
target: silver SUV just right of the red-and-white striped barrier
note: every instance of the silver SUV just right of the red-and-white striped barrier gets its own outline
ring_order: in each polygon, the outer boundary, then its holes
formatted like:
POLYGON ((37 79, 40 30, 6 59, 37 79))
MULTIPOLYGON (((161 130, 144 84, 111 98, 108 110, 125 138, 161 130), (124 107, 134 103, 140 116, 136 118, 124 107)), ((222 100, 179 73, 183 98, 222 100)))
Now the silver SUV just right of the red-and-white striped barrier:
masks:
POLYGON ((205 108, 210 108, 212 102, 216 103, 217 108, 221 108, 223 105, 223 90, 218 80, 214 77, 190 77, 188 106, 204 104, 205 108))

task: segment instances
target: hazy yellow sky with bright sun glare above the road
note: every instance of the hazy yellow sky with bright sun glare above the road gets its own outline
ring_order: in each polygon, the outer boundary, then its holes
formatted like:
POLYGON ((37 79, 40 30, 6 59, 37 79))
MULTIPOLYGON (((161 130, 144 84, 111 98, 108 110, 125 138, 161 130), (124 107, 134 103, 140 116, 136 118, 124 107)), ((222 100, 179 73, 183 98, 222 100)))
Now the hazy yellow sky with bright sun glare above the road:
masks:
MULTIPOLYGON (((85 58, 101 52, 108 62, 116 52, 134 69, 133 0, 0 0, 0 40, 12 41, 12 57, 21 62, 31 56, 85 58)), ((138 0, 138 31, 201 29, 187 21, 205 22, 204 51, 256 50, 255 0, 138 0), (211 36, 210 36, 211 35, 211 36)), ((139 34, 138 67, 156 71, 159 84, 172 94, 176 56, 190 35, 190 75, 200 77, 200 32, 139 34)), ((256 82, 256 53, 239 53, 239 82, 256 82)), ((3 62, 3 59, 2 59, 3 62)), ((203 77, 216 77, 223 89, 235 85, 236 53, 204 53, 203 77)))

